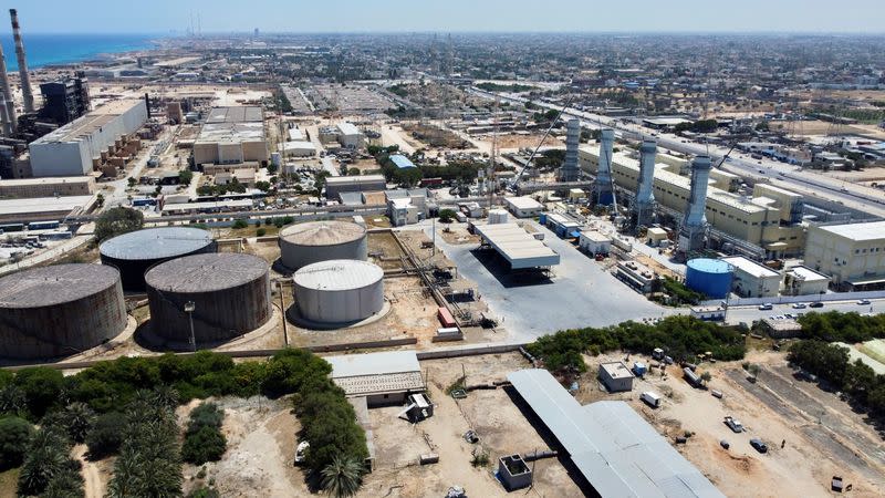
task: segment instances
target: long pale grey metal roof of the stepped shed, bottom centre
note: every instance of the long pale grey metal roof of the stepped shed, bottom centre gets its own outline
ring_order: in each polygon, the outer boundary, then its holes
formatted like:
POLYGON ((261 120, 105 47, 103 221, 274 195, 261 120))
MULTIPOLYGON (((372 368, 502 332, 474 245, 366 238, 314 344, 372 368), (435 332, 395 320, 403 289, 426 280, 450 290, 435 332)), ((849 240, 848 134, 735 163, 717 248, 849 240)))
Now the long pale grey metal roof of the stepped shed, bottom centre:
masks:
POLYGON ((545 370, 507 378, 603 498, 725 497, 626 403, 581 406, 545 370))

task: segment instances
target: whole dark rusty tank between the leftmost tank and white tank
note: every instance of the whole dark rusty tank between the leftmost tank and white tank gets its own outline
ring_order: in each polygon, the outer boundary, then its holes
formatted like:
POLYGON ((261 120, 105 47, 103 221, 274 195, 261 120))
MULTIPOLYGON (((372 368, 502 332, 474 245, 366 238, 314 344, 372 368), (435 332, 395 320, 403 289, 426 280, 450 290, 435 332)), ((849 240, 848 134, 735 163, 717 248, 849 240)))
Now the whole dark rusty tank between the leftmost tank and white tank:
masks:
POLYGON ((271 317, 269 270, 257 256, 232 252, 155 266, 145 273, 152 331, 187 343, 192 319, 196 342, 215 343, 260 328, 271 317))

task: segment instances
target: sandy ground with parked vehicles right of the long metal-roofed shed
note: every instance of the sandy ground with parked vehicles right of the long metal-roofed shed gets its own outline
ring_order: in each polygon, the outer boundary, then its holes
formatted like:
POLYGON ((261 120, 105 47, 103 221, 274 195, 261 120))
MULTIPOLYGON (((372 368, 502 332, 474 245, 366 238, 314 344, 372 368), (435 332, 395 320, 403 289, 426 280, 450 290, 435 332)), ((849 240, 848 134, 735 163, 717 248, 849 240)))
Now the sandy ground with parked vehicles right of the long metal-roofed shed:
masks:
MULTIPOLYGON (((595 373, 601 362, 616 359, 618 355, 587 359, 589 372, 595 373)), ((762 364, 783 363, 782 355, 770 353, 752 353, 748 360, 762 364)), ((655 363, 639 356, 629 359, 631 363, 634 361, 655 363)), ((645 380, 637 378, 632 393, 617 395, 602 393, 593 374, 589 374, 577 397, 582 404, 602 397, 628 401, 670 442, 686 430, 693 432, 688 443, 676 448, 729 497, 827 496, 829 481, 834 475, 853 484, 854 496, 882 496, 881 485, 877 487, 860 469, 848 466, 835 448, 806 436, 803 428, 814 423, 796 412, 779 413, 749 392, 764 388, 762 376, 756 385, 745 383, 745 387, 733 378, 736 374, 745 375, 735 363, 708 363, 700 370, 712 373, 709 388, 725 393, 722 400, 711 396, 709 391, 693 388, 677 366, 670 366, 666 377, 655 371, 645 380), (663 406, 652 409, 642 403, 638 396, 644 391, 660 394, 663 406), (740 419, 747 432, 732 433, 722 422, 726 415, 740 419), (752 437, 769 445, 768 454, 759 454, 749 445, 752 437), (720 447, 722 439, 730 443, 729 450, 720 447), (780 447, 781 440, 785 440, 784 448, 780 447)))

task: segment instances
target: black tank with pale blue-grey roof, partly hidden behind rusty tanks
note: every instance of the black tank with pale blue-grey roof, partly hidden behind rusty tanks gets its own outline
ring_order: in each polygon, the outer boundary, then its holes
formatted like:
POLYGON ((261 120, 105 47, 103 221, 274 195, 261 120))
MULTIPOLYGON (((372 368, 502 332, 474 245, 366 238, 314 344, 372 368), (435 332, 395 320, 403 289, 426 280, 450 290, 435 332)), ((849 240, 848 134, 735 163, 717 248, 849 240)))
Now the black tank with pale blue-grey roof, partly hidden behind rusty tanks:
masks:
POLYGON ((119 270, 123 289, 134 292, 144 292, 145 272, 154 264, 217 250, 218 245, 209 231, 190 227, 131 231, 105 240, 98 247, 102 264, 119 270))

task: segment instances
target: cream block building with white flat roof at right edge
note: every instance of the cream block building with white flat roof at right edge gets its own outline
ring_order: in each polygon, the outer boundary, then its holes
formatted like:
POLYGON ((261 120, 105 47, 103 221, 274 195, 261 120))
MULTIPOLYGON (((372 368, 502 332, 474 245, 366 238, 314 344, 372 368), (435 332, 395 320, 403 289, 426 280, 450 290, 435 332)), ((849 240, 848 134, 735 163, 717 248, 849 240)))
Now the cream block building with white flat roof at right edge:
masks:
POLYGON ((840 290, 885 289, 885 221, 809 227, 805 266, 840 290))

